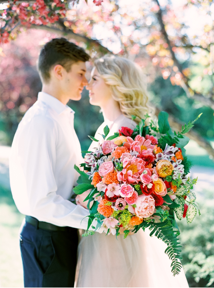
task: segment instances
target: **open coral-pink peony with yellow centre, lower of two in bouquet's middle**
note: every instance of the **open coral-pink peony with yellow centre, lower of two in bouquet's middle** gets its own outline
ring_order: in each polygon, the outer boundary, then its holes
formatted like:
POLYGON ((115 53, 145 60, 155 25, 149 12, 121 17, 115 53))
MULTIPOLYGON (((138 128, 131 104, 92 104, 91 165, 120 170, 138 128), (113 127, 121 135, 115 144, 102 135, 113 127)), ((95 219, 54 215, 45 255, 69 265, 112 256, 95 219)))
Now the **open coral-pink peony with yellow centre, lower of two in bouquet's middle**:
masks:
POLYGON ((124 169, 121 172, 118 172, 118 181, 131 184, 137 183, 140 181, 140 174, 145 169, 144 161, 140 158, 133 156, 131 160, 125 158, 123 160, 124 169))

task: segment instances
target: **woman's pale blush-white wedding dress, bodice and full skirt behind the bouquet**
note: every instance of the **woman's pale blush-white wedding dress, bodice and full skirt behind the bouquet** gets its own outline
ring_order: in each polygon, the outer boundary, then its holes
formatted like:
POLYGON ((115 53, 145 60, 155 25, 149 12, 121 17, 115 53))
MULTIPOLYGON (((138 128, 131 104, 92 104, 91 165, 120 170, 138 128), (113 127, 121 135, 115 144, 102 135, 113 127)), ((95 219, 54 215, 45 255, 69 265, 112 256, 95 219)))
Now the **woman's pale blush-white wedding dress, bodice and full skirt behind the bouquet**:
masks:
MULTIPOLYGON (((101 140, 103 128, 108 125, 109 136, 121 126, 134 129, 135 122, 121 115, 114 122, 104 122, 96 131, 101 140)), ((96 147, 92 142, 89 151, 96 147)), ((148 229, 128 235, 107 235, 95 232, 80 236, 75 287, 189 287, 183 268, 173 276, 171 261, 164 253, 167 245, 157 237, 149 236, 148 229)), ((82 235, 82 231, 80 231, 82 235)))

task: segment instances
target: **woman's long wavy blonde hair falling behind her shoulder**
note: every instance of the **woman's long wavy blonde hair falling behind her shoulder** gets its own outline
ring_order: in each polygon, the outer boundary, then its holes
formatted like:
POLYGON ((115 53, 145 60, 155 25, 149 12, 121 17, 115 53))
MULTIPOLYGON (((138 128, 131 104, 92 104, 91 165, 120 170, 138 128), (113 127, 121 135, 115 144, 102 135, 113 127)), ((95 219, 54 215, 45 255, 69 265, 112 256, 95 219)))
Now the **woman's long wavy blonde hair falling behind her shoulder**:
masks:
POLYGON ((95 60, 94 65, 105 83, 111 86, 113 99, 118 101, 120 110, 127 118, 135 115, 138 124, 146 113, 151 114, 145 76, 140 67, 114 55, 103 56, 95 60))

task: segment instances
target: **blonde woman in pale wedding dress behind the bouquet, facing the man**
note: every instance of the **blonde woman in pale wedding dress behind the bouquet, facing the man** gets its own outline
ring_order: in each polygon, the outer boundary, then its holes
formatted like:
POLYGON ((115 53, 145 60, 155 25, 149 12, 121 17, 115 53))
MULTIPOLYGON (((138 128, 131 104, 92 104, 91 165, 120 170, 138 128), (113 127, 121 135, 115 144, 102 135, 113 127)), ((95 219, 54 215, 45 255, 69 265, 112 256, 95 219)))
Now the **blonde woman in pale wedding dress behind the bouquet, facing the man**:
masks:
MULTIPOLYGON (((143 75, 133 62, 116 56, 104 56, 95 61, 87 87, 90 104, 101 107, 104 123, 95 138, 108 125, 109 136, 122 126, 134 129, 149 112, 143 75), (135 122, 131 120, 135 115, 135 122)), ((97 145, 93 141, 89 150, 97 145)), ((86 195, 78 195, 77 200, 86 195)), ((78 203, 78 202, 77 202, 78 203)), ((76 287, 189 287, 184 271, 173 277, 171 261, 164 253, 166 244, 149 231, 118 240, 110 234, 82 237, 78 247, 76 287)))

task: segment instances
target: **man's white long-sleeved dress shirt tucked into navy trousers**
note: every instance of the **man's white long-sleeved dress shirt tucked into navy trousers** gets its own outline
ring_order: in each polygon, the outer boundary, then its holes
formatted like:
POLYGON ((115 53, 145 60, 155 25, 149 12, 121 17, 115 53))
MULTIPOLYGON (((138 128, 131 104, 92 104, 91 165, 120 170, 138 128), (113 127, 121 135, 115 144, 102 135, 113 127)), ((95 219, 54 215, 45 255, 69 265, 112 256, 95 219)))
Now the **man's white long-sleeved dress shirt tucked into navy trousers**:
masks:
POLYGON ((88 209, 69 201, 79 177, 74 164, 84 162, 73 119, 70 107, 39 92, 14 136, 10 185, 20 213, 57 226, 86 229, 88 209))

